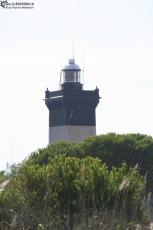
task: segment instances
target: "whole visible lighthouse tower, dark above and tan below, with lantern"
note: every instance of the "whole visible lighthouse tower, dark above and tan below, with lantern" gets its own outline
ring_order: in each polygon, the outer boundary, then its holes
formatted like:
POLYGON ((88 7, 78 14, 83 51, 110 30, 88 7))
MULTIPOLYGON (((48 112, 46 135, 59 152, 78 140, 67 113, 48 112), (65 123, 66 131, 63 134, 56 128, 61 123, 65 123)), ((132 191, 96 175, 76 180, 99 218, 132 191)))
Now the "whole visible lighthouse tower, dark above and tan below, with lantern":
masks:
POLYGON ((59 140, 80 142, 96 135, 95 109, 99 90, 83 90, 81 69, 70 59, 62 69, 60 90, 45 92, 49 109, 49 143, 59 140))

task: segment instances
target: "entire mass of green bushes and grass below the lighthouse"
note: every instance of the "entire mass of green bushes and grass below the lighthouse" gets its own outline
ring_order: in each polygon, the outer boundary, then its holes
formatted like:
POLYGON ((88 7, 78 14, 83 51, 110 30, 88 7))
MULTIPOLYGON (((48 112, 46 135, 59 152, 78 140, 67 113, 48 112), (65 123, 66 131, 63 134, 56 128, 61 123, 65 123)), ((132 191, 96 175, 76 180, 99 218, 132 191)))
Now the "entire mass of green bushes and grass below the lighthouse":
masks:
POLYGON ((59 142, 13 166, 0 229, 136 229, 149 221, 153 139, 107 134, 59 142))

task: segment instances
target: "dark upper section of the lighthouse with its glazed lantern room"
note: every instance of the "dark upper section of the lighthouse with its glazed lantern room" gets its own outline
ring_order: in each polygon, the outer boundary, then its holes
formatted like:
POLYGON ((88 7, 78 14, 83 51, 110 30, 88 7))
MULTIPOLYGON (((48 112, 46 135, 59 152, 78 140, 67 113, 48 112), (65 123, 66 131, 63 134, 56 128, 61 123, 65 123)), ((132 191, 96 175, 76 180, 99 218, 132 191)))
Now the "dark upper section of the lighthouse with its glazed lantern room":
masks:
POLYGON ((95 126, 95 109, 99 103, 99 90, 83 90, 81 69, 73 59, 62 69, 61 89, 45 92, 49 109, 49 127, 95 126))

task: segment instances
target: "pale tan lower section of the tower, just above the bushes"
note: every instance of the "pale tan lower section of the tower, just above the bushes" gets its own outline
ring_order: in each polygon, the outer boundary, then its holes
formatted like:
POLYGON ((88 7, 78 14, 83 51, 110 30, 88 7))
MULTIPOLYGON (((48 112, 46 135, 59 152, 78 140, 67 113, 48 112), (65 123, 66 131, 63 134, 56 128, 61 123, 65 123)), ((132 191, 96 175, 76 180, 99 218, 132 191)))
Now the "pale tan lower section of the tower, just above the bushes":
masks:
POLYGON ((56 141, 81 142, 89 136, 96 135, 95 126, 56 126, 49 128, 49 143, 56 141))

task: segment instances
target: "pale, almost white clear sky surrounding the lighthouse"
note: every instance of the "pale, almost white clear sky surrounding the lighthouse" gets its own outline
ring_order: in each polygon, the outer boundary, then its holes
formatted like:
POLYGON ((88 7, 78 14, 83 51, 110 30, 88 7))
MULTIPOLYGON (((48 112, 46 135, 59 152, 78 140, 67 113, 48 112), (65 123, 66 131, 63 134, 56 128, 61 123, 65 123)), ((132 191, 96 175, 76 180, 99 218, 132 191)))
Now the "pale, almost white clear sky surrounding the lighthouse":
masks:
POLYGON ((72 41, 84 88, 102 97, 97 134, 153 136, 153 1, 35 0, 0 8, 0 169, 48 144, 44 91, 59 88, 72 41))

